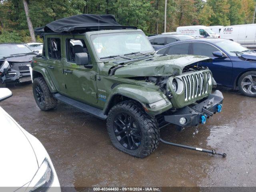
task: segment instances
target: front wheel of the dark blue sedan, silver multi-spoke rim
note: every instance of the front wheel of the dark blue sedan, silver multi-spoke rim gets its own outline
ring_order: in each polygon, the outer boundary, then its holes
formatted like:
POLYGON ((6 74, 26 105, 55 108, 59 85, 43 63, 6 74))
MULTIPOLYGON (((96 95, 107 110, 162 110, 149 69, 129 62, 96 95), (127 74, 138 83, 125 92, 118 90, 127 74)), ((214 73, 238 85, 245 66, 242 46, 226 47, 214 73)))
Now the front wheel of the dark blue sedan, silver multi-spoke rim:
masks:
POLYGON ((256 97, 256 71, 249 71, 239 78, 238 87, 242 94, 256 97))

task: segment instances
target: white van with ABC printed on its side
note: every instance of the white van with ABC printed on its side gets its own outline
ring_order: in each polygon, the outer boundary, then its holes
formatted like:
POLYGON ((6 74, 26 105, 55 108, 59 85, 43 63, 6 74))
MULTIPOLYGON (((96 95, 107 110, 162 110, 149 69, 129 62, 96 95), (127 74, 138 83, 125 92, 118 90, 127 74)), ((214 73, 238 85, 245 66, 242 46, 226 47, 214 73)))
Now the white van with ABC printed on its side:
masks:
POLYGON ((247 47, 255 47, 256 24, 225 26, 220 30, 220 37, 247 47))

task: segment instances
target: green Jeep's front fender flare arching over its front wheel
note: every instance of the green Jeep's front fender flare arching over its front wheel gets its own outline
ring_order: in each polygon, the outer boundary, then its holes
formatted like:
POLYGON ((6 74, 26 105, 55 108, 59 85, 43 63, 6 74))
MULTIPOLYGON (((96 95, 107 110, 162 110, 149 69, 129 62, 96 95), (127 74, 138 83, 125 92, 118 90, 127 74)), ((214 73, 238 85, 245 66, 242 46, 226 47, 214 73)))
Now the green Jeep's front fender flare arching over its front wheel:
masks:
POLYGON ((138 101, 140 104, 142 104, 144 108, 147 109, 147 112, 149 114, 160 114, 172 108, 172 104, 169 102, 166 106, 162 108, 151 110, 146 106, 146 104, 151 104, 163 99, 167 100, 166 96, 158 90, 133 84, 119 84, 111 90, 110 95, 111 96, 108 97, 103 109, 104 114, 107 114, 108 110, 111 108, 112 99, 114 99, 114 97, 117 95, 125 96, 138 101))

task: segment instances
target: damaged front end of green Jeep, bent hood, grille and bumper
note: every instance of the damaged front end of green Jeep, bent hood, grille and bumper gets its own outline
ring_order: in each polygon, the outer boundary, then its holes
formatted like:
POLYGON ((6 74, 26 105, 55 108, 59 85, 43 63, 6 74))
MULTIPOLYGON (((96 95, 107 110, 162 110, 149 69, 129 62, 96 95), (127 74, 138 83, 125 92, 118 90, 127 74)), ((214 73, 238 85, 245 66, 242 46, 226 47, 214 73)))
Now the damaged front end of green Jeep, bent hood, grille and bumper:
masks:
MULTIPOLYGON (((216 85, 212 72, 200 62, 212 62, 207 57, 165 56, 147 62, 119 66, 112 75, 136 82, 154 85, 161 95, 153 103, 142 103, 144 110, 157 117, 159 126, 174 124, 179 127, 204 124, 206 119, 220 112, 222 93, 212 88, 216 85), (179 61, 179 62, 177 62, 179 61), (141 70, 141 68, 144 70, 141 70), (128 73, 129 72, 129 73, 128 73)), ((149 98, 154 97, 148 95, 149 98)))

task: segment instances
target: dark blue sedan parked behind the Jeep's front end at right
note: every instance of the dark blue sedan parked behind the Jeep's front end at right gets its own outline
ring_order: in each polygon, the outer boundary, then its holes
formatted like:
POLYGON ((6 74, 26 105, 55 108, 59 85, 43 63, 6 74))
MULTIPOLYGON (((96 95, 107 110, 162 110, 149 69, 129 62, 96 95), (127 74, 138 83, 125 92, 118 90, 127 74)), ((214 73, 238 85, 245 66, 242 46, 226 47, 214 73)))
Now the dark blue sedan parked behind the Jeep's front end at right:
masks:
POLYGON ((256 52, 220 38, 174 42, 156 50, 157 54, 193 54, 212 58, 205 63, 218 85, 256 97, 256 52))

